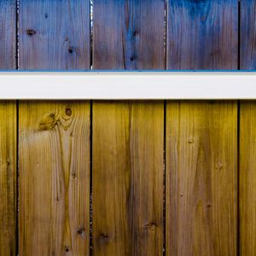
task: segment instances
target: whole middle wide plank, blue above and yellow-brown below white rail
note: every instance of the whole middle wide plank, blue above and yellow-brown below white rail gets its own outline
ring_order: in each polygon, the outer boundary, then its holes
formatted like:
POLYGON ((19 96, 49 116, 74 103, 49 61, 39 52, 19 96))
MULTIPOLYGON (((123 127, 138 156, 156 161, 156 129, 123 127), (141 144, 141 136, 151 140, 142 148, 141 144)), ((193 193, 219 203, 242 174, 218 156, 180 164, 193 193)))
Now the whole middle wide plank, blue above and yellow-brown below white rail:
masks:
MULTIPOLYGON (((164 69, 164 1, 94 1, 94 69, 164 69)), ((163 102, 93 102, 93 253, 161 255, 163 102)))

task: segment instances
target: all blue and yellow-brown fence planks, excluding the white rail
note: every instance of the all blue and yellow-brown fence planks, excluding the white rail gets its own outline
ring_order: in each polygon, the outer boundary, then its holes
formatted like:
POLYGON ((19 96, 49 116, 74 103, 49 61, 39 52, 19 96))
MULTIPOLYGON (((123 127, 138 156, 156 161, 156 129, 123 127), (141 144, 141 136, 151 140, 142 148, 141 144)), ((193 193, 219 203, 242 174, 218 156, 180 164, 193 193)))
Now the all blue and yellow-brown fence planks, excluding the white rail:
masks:
MULTIPOLYGON (((1 0, 0 68, 251 70, 255 13, 1 0)), ((256 254, 255 102, 1 102, 0 119, 1 256, 256 254)))

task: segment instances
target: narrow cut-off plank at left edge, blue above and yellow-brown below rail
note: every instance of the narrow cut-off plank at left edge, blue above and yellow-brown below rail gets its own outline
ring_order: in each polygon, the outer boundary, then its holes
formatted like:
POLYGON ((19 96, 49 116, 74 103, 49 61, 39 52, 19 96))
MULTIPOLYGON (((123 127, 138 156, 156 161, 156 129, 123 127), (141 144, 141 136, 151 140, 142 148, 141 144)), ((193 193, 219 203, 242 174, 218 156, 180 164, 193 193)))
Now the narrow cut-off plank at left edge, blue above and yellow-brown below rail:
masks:
MULTIPOLYGON (((0 1, 0 69, 16 68, 16 1, 0 1)), ((16 255, 16 103, 0 102, 0 255, 16 255)))

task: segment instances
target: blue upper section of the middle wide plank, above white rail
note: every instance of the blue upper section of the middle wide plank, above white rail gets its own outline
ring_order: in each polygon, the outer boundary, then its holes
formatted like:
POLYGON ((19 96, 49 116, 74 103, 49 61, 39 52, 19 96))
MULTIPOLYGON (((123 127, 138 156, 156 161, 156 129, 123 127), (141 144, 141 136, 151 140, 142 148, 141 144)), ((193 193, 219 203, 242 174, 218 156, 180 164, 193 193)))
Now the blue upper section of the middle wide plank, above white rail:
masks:
POLYGON ((94 69, 165 69, 165 3, 95 0, 94 69))

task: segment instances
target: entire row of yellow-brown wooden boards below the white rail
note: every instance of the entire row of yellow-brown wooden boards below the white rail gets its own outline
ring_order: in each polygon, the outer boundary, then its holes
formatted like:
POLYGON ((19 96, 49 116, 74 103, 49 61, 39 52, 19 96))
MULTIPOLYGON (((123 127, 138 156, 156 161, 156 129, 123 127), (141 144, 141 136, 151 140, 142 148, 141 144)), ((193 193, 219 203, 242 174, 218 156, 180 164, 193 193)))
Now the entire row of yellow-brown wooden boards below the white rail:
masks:
POLYGON ((256 254, 256 102, 1 102, 0 121, 0 255, 256 254))

